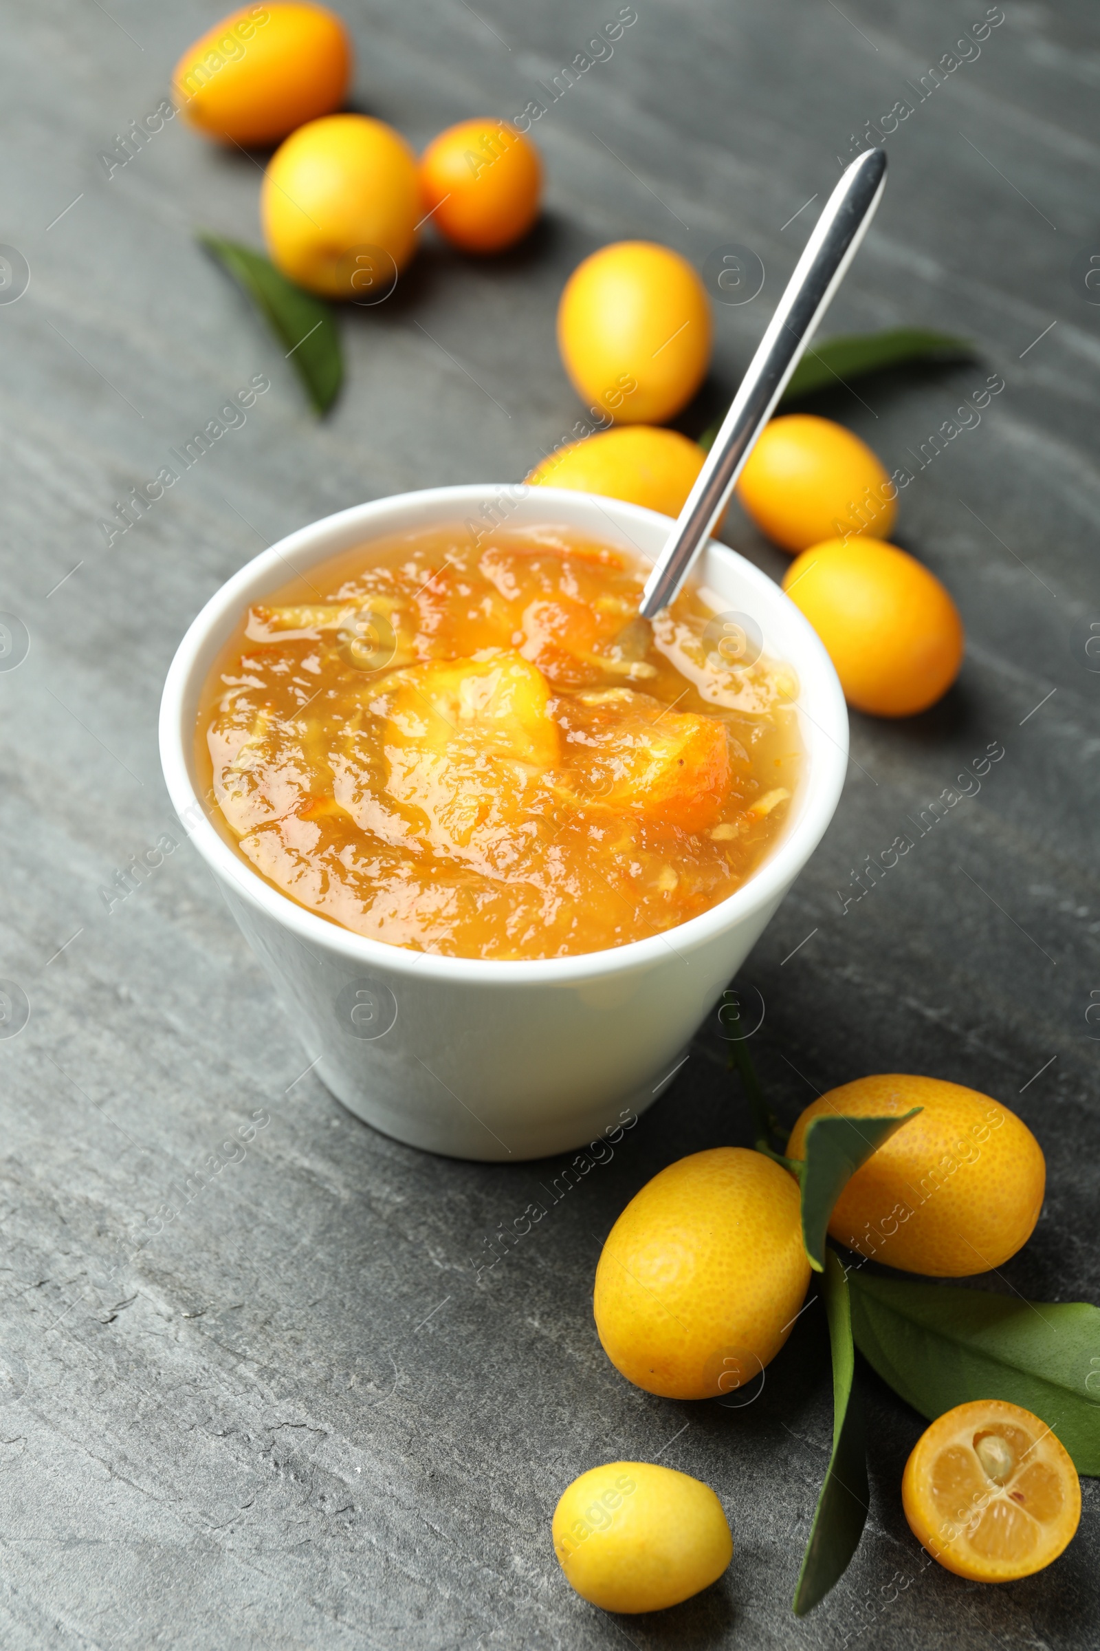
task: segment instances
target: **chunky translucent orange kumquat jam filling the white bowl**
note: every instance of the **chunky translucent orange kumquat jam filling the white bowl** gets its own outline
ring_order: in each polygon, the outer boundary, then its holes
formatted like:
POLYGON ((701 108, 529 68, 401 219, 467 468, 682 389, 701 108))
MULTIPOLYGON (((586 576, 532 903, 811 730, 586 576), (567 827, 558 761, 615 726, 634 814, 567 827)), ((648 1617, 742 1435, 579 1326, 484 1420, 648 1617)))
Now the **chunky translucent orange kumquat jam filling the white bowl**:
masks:
POLYGON ((729 647, 703 589, 638 646, 643 581, 554 525, 434 527, 310 568, 206 680, 216 824, 310 911, 450 958, 566 958, 698 916, 783 829, 798 687, 744 632, 729 647))

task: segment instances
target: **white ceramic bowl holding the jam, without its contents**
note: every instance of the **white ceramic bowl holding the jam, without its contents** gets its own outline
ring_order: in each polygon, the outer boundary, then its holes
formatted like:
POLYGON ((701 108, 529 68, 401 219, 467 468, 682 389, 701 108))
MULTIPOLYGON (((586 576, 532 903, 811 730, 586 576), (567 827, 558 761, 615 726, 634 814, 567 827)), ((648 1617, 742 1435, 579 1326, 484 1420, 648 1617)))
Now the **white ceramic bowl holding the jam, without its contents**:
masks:
POLYGON ((750 613, 765 652, 800 680, 805 763, 778 844, 727 900, 668 934, 613 951, 490 963, 386 946, 279 893, 224 842, 196 791, 203 682, 241 613, 290 568, 364 540, 437 523, 562 523, 651 558, 668 517, 638 505, 518 485, 434 487, 356 505, 290 533, 211 596, 183 637, 160 707, 172 802, 267 967, 317 1075, 356 1116, 452 1157, 528 1159, 579 1147, 653 1103, 820 842, 844 783, 848 717, 821 642, 777 584, 711 543, 696 573, 750 613))

